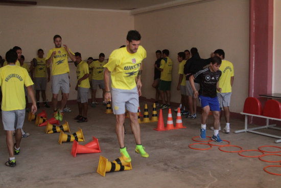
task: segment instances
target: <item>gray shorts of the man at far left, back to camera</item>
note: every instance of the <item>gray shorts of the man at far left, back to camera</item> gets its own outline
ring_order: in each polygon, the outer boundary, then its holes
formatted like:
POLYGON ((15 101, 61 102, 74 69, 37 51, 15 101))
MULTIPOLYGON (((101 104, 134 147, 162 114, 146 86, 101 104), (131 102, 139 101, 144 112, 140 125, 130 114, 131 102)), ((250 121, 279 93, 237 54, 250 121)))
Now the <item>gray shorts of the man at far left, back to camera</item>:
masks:
POLYGON ((26 109, 24 110, 2 110, 2 122, 5 131, 14 131, 22 129, 26 117, 26 109))

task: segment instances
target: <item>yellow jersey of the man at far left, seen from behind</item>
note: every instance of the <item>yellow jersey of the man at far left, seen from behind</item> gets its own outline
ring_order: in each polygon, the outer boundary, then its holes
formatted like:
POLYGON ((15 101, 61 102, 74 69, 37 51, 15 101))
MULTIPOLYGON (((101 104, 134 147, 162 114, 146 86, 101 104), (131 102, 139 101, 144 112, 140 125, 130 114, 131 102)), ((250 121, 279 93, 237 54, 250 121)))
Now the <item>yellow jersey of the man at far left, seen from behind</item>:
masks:
POLYGON ((0 86, 2 89, 2 107, 4 111, 23 110, 26 108, 26 87, 33 82, 25 68, 8 65, 0 68, 0 86))

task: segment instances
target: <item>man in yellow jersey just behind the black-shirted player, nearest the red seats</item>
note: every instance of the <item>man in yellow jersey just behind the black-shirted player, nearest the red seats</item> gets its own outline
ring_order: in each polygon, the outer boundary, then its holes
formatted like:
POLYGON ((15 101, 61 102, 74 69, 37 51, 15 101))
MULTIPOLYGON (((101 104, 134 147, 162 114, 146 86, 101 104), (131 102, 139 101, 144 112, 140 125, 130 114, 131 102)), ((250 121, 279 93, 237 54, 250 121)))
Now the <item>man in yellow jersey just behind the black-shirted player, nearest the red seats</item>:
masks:
MULTIPOLYGON (((230 111, 229 111, 229 106, 230 106, 230 98, 231 98, 231 92, 232 92, 232 85, 234 81, 234 69, 233 65, 231 62, 228 60, 224 60, 225 53, 222 49, 218 49, 214 52, 215 56, 218 56, 222 59, 222 64, 220 67, 220 70, 222 71, 222 75, 220 77, 219 83, 220 83, 220 88, 222 91, 217 93, 218 100, 220 102, 220 108, 223 108, 224 111, 224 116, 225 116, 225 128, 223 128, 222 132, 223 133, 230 133, 230 111)), ((220 111, 220 118, 222 116, 222 112, 220 111)), ((211 127, 210 129, 212 129, 211 127)), ((214 129, 214 128, 213 128, 214 129)), ((213 130, 212 129, 212 130, 213 130)), ((221 130, 221 127, 219 128, 221 130)))

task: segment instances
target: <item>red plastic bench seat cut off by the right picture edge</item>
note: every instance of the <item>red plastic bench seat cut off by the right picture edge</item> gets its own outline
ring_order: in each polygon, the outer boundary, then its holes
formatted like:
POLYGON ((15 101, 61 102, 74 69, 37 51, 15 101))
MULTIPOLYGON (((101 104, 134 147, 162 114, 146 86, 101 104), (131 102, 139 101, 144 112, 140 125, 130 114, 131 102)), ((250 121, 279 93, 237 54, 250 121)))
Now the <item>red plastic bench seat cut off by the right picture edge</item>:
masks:
POLYGON ((281 119, 281 103, 277 100, 267 100, 263 116, 281 119))

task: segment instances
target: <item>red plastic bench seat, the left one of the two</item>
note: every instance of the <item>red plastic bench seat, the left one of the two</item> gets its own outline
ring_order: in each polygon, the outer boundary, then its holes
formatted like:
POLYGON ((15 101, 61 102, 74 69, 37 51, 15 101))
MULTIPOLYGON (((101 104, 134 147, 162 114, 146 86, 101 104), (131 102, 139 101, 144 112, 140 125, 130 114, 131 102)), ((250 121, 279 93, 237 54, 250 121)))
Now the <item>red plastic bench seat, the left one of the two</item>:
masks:
POLYGON ((244 113, 262 115, 263 107, 259 99, 254 97, 247 97, 244 102, 244 113))

